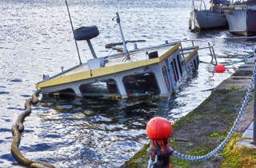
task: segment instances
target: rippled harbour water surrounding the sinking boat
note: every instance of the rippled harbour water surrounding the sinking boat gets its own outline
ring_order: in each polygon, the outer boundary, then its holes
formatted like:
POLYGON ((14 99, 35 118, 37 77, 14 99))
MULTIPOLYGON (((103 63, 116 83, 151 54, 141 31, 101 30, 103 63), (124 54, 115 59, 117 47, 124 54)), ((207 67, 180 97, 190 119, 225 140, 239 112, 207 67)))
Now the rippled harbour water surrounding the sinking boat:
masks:
MULTIPOLYGON (((203 39, 214 44, 220 63, 237 62, 249 55, 255 39, 227 40, 227 30, 199 34, 188 30, 190 1, 89 0, 69 2, 75 28, 96 25, 91 40, 96 54, 107 55, 106 43, 120 42, 118 26, 111 19, 119 12, 126 40, 203 39)), ((42 74, 54 75, 79 63, 64 0, 0 1, 0 167, 18 166, 10 154, 11 126, 24 110, 42 74)), ((82 62, 90 58, 85 42, 78 42, 82 62), (82 51, 84 50, 84 52, 82 51)), ((210 62, 206 51, 200 59, 210 62)), ((156 100, 100 100, 45 98, 26 118, 19 149, 26 158, 50 162, 56 167, 118 167, 147 142, 146 123, 154 116, 170 122, 197 107, 210 91, 229 78, 239 64, 213 73, 209 63, 170 98, 156 100)))

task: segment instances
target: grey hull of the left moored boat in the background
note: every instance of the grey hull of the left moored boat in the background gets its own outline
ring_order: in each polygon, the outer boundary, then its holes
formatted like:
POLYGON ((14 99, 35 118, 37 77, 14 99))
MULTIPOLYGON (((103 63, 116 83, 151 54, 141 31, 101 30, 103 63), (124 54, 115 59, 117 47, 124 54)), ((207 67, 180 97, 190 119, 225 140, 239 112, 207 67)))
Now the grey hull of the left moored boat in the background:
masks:
POLYGON ((194 9, 190 12, 190 19, 194 28, 199 30, 224 28, 228 26, 225 14, 220 11, 194 9))

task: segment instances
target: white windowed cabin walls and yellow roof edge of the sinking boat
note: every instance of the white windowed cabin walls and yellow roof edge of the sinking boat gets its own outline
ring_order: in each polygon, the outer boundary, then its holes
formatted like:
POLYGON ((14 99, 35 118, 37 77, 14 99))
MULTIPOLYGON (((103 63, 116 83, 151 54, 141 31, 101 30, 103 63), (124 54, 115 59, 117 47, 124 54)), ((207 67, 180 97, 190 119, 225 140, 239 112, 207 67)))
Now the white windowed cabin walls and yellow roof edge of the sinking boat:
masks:
MULTIPOLYGON (((36 84, 42 94, 74 94, 78 97, 130 98, 138 96, 168 97, 174 93, 183 80, 198 69, 198 47, 190 49, 185 59, 180 53, 180 43, 166 46, 164 50, 154 49, 156 58, 142 59, 135 56, 132 62, 115 65, 120 58, 112 58, 105 67, 86 70, 84 64, 72 70, 55 75, 36 84), (168 50, 166 50, 166 47, 168 50), (162 52, 162 51, 165 52, 162 52), (113 65, 112 65, 113 64, 113 65)), ((150 51, 150 50, 149 50, 150 51)), ((150 51, 151 52, 151 51, 150 51)), ((130 54, 133 57, 133 54, 130 54)))

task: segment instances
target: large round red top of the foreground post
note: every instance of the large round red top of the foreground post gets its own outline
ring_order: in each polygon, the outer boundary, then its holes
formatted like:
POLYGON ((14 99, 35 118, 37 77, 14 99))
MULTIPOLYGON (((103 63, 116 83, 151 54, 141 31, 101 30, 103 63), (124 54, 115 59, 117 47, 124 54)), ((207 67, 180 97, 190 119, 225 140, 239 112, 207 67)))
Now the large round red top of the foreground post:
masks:
POLYGON ((150 139, 168 139, 173 134, 173 129, 166 118, 155 117, 147 123, 146 134, 150 139))

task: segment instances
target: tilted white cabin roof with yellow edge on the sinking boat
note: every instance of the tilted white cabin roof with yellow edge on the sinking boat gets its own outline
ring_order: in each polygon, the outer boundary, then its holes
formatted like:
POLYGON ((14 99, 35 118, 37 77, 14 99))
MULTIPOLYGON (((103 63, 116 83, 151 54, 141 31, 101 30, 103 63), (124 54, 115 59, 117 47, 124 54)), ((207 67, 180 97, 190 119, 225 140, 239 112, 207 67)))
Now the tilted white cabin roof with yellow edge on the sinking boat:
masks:
MULTIPOLYGON (((108 63, 106 66, 99 67, 99 68, 90 68, 90 61, 83 63, 79 66, 74 66, 70 70, 66 70, 62 73, 59 73, 52 78, 51 80, 38 82, 36 84, 37 88, 46 87, 46 86, 53 86, 58 84, 63 84, 67 82, 74 82, 79 81, 85 78, 95 78, 98 76, 103 76, 106 74, 114 74, 124 70, 130 70, 137 67, 142 66, 149 66, 151 64, 155 64, 158 62, 162 62, 163 59, 167 58, 170 54, 172 54, 175 50, 178 50, 180 43, 176 43, 174 46, 166 46, 166 47, 158 47, 154 49, 145 50, 145 55, 142 55, 143 51, 139 52, 132 52, 130 53, 130 62, 122 62, 124 59, 123 55, 127 54, 120 54, 121 56, 110 56, 108 63), (157 50, 160 57, 156 58, 146 58, 146 53, 153 52, 153 50, 157 50), (118 63, 117 63, 118 62, 118 63), (74 75, 75 74, 75 75, 74 75)), ((102 58, 98 58, 99 61, 102 61, 102 58)), ((97 59, 92 59, 91 62, 98 61, 97 59)), ((93 65, 93 64, 92 64, 93 65)))

